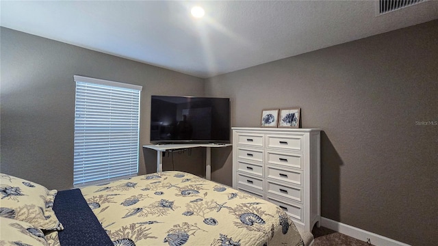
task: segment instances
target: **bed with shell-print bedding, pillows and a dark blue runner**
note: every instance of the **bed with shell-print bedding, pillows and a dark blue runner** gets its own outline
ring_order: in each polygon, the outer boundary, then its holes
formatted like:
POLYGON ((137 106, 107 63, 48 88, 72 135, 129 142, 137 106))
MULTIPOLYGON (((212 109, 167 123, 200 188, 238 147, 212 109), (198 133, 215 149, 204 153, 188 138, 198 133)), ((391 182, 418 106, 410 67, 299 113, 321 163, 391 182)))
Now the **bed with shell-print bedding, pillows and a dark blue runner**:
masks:
POLYGON ((305 245, 278 206, 184 172, 68 191, 0 178, 0 245, 305 245))

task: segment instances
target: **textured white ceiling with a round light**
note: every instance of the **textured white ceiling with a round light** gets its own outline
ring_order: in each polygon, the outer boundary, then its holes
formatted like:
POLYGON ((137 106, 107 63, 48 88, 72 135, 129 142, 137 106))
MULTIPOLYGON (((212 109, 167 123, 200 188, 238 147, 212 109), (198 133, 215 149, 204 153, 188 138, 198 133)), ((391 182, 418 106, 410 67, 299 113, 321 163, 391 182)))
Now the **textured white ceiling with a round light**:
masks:
POLYGON ((0 25, 208 78, 438 18, 438 1, 3 1, 0 25), (199 5, 205 16, 190 16, 199 5))

